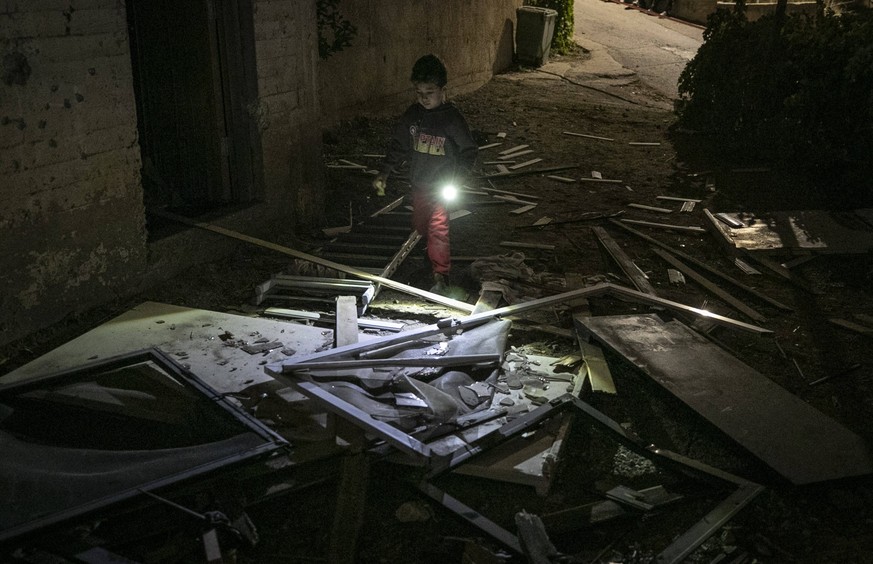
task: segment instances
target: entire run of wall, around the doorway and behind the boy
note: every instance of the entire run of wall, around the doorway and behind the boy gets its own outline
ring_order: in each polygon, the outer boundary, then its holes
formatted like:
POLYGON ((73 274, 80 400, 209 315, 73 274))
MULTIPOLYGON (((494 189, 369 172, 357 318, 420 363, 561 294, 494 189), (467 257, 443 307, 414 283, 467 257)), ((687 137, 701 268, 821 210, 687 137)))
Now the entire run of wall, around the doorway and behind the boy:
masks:
MULTIPOLYGON (((243 245, 196 228, 149 237, 131 1, 0 0, 0 345, 243 245)), ((237 5, 254 33, 262 186, 245 209, 198 220, 290 246, 323 212, 324 114, 406 105, 425 52, 445 59, 454 93, 484 84, 512 62, 521 0, 344 0, 360 32, 328 61, 313 0, 237 5)))

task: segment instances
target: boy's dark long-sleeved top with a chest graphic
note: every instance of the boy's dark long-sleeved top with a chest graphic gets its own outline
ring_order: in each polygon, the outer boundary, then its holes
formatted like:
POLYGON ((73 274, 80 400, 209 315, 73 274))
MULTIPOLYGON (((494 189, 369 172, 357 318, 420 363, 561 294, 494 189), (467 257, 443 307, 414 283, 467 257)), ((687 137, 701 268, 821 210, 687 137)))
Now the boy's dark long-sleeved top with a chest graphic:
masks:
POLYGON ((394 126, 382 172, 390 174, 408 161, 413 186, 460 184, 469 177, 478 152, 470 127, 454 104, 426 110, 416 103, 394 126))

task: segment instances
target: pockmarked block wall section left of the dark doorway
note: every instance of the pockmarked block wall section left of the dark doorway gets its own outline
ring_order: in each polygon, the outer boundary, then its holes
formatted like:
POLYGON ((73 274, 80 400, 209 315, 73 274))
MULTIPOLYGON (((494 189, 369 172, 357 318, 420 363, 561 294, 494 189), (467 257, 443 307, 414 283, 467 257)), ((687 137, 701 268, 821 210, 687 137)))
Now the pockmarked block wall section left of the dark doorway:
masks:
POLYGON ((146 267, 117 0, 0 0, 0 343, 123 293, 146 267))

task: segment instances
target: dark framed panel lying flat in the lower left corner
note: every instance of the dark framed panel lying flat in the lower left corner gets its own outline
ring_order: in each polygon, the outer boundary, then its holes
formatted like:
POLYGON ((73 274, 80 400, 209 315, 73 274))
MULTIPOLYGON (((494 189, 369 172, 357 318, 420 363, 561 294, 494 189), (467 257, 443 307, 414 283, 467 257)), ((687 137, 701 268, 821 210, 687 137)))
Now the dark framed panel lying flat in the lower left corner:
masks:
POLYGON ((148 349, 0 388, 0 541, 286 445, 148 349))

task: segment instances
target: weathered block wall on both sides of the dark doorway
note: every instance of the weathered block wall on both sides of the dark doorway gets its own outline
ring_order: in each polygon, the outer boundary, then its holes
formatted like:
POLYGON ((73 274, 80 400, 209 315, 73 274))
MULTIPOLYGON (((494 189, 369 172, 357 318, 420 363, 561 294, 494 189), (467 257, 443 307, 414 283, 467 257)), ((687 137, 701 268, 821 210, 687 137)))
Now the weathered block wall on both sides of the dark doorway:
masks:
MULTIPOLYGON (((323 192, 315 3, 251 10, 263 197, 213 222, 287 243, 323 192)), ((228 248, 196 229, 150 242, 141 168, 125 3, 0 1, 0 344, 228 248)))

